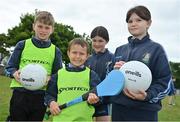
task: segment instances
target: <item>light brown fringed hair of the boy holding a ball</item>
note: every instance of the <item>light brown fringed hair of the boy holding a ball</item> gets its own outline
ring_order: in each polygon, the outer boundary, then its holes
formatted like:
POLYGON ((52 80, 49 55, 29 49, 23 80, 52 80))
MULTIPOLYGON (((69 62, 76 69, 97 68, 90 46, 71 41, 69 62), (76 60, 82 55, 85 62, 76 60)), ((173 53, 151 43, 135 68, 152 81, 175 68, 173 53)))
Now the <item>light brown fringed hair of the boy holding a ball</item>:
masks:
POLYGON ((37 21, 46 25, 51 25, 51 26, 54 26, 54 23, 55 23, 53 15, 47 11, 36 12, 34 23, 36 23, 37 21))

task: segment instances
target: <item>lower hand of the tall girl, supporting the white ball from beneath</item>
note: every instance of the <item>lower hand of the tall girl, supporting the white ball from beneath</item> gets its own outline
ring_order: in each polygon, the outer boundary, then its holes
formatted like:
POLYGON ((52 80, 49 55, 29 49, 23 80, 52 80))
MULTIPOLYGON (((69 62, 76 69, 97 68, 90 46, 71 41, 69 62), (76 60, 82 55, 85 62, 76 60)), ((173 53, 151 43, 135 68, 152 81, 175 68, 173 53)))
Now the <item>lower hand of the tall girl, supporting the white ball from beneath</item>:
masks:
POLYGON ((134 93, 132 91, 129 91, 128 89, 124 89, 123 92, 126 96, 130 97, 133 100, 143 101, 147 96, 147 93, 145 91, 142 91, 142 90, 140 90, 138 93, 134 93))

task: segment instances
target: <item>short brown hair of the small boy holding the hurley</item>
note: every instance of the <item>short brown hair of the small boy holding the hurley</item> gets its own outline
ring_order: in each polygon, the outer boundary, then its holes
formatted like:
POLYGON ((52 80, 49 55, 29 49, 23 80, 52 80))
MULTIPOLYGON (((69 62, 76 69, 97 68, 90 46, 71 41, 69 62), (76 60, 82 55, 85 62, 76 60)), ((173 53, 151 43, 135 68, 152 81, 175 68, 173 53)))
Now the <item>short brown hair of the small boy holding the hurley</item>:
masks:
POLYGON ((87 48, 87 54, 90 53, 90 49, 89 49, 89 43, 84 39, 84 38, 74 38, 73 40, 71 40, 69 42, 69 45, 68 45, 68 51, 71 50, 71 46, 72 45, 81 45, 81 47, 86 47, 87 48))

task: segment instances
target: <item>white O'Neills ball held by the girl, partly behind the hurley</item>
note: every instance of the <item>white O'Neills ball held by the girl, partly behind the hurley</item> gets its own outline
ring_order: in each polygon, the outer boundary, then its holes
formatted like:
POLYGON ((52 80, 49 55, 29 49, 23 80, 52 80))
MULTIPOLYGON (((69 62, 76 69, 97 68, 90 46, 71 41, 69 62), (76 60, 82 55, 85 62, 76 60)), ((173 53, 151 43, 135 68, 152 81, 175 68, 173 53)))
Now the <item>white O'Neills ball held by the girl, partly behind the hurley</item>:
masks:
POLYGON ((125 88, 135 93, 146 91, 152 81, 150 69, 140 61, 126 62, 120 70, 125 76, 125 88))

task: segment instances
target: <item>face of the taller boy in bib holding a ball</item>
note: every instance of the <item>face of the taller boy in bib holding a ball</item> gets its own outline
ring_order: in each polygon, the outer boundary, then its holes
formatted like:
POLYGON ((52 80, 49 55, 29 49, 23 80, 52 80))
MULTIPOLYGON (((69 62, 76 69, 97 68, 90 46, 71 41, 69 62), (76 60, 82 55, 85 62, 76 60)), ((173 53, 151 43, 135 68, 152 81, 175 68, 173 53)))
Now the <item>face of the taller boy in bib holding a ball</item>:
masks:
POLYGON ((39 21, 33 24, 33 30, 35 31, 35 36, 39 40, 46 41, 49 36, 53 33, 52 25, 46 25, 39 21))

